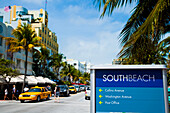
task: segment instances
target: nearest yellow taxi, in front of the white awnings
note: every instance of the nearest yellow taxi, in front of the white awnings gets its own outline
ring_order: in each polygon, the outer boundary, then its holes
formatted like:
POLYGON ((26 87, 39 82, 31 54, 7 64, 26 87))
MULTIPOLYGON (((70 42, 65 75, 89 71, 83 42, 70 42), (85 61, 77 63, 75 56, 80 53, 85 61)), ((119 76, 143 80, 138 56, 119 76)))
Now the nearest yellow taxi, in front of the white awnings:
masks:
POLYGON ((19 100, 23 103, 25 100, 36 100, 49 99, 51 97, 51 91, 48 91, 45 87, 32 87, 25 93, 19 95, 19 100))

